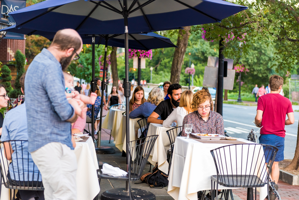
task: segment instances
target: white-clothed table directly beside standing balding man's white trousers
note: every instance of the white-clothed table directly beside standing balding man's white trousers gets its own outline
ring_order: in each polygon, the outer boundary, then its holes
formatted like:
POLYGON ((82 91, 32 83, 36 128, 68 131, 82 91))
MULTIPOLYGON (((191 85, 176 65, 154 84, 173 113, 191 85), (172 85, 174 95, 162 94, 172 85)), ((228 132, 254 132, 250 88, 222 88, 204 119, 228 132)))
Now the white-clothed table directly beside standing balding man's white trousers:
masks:
POLYGON ((74 153, 77 158, 77 199, 92 200, 100 192, 97 178, 97 154, 92 138, 85 136, 83 140, 76 142, 74 153))

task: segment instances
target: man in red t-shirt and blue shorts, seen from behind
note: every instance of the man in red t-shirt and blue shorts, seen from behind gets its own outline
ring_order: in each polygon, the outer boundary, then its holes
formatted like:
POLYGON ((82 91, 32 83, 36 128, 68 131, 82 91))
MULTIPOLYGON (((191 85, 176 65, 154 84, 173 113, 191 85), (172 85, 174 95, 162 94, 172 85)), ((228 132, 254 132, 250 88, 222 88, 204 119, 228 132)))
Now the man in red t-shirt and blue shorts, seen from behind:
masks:
MULTIPOLYGON (((283 85, 281 76, 273 75, 269 79, 271 93, 260 96, 257 101, 257 115, 255 123, 260 130, 260 144, 272 145, 278 148, 274 163, 272 165, 271 178, 275 183, 278 182, 279 168, 278 162, 284 159, 284 137, 286 136, 285 125, 294 124, 294 112, 291 101, 280 95, 283 85), (286 115, 288 119, 286 120, 286 115)), ((268 163, 269 160, 266 160, 268 163)), ((278 189, 277 184, 274 184, 278 189)), ((274 200, 276 195, 273 191, 269 191, 270 200, 274 200)))

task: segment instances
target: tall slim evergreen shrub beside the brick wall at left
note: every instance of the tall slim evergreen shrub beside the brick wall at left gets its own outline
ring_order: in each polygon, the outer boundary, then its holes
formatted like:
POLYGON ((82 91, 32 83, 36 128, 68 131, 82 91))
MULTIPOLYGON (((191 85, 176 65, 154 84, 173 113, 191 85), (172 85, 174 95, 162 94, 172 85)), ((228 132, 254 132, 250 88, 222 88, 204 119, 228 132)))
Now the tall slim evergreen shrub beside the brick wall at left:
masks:
POLYGON ((17 77, 15 82, 15 88, 9 93, 9 96, 12 98, 18 98, 18 95, 22 94, 20 77, 25 72, 24 66, 25 66, 26 57, 24 54, 22 54, 20 50, 17 50, 15 54, 15 59, 16 59, 17 77))

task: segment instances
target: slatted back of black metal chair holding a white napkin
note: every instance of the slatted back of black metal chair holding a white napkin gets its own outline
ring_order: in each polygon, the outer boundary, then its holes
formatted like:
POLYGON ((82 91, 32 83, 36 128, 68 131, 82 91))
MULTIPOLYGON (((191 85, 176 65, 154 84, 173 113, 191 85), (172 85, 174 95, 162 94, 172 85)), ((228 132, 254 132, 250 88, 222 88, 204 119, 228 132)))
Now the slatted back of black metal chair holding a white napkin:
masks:
POLYGON ((147 136, 127 143, 129 150, 129 181, 140 179, 158 135, 147 136), (134 159, 135 158, 135 159, 134 159))

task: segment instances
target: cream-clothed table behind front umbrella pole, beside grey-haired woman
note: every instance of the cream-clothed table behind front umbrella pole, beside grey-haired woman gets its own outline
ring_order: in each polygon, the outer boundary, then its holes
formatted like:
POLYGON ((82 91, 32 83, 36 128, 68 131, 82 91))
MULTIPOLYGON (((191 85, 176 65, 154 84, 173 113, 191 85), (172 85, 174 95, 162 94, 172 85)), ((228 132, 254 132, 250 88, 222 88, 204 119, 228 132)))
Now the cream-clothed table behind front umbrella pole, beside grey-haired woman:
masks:
MULTIPOLYGON (((139 129, 139 125, 137 123, 138 120, 141 118, 136 119, 129 119, 129 127, 130 127, 130 134, 129 134, 129 141, 137 140, 137 131, 139 129)), ((116 134, 114 143, 115 147, 119 149, 119 151, 125 151, 126 152, 126 115, 123 115, 123 118, 120 122, 120 126, 118 129, 118 134, 116 134)))

